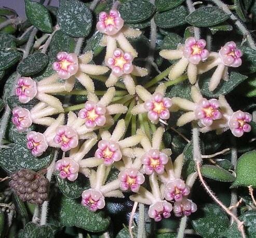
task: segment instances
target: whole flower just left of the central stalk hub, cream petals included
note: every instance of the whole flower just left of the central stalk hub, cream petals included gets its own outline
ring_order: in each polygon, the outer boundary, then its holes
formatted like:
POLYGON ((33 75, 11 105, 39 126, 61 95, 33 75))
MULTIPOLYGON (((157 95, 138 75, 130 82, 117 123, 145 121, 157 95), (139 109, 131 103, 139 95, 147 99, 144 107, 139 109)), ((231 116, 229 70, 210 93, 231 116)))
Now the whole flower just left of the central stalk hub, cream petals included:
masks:
POLYGON ((114 96, 114 87, 109 88, 100 100, 95 93, 88 94, 85 108, 78 113, 78 117, 84 120, 86 128, 97 129, 97 127, 103 127, 113 120, 110 115, 126 113, 128 108, 122 104, 109 105, 114 96))

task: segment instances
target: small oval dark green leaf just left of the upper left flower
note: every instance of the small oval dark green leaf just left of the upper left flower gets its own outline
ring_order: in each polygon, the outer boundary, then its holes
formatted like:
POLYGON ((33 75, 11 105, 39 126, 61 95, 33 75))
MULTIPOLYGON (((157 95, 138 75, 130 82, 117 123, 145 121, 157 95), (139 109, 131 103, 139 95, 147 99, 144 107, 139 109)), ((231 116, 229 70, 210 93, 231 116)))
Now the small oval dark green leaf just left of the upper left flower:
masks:
POLYGON ((22 76, 30 76, 42 72, 48 64, 48 56, 44 53, 30 54, 17 67, 22 76))

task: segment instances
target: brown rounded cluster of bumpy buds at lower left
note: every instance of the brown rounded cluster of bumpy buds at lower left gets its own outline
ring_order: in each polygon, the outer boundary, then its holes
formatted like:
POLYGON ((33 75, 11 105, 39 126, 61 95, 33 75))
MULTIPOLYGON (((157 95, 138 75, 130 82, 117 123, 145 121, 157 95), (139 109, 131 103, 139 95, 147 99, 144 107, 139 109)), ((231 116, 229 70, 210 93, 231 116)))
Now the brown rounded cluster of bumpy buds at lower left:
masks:
POLYGON ((11 175, 9 185, 24 202, 42 204, 48 198, 49 181, 44 173, 21 169, 11 175))

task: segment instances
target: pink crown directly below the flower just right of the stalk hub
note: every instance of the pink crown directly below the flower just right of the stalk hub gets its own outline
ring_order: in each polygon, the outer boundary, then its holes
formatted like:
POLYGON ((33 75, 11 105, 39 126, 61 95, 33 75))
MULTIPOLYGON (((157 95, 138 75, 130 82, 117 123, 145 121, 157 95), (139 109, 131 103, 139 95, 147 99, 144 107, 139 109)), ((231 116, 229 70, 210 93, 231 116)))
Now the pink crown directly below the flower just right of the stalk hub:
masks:
POLYGON ((146 174, 152 174, 153 172, 163 174, 168 156, 158 149, 151 149, 142 156, 141 160, 146 174))

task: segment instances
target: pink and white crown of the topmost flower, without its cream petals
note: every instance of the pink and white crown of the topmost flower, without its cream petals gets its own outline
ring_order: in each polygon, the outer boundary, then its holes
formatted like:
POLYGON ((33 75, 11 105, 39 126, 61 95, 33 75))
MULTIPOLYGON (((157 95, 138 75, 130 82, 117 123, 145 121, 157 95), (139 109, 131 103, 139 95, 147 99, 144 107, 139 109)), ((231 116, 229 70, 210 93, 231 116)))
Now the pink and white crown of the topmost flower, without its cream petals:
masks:
POLYGON ((111 9, 109 14, 105 11, 100 12, 97 30, 107 35, 115 35, 124 26, 124 20, 116 9, 111 9))

